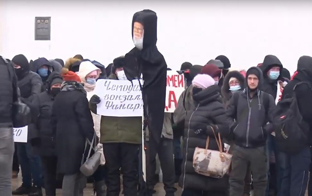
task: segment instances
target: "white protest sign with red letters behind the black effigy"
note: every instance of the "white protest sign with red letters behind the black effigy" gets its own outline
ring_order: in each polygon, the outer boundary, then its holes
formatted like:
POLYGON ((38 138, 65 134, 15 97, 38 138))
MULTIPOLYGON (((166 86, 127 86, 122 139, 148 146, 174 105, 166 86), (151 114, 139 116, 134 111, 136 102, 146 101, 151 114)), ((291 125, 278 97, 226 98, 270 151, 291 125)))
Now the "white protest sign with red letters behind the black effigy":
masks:
POLYGON ((176 71, 167 71, 165 113, 173 113, 180 95, 185 90, 184 75, 176 71))

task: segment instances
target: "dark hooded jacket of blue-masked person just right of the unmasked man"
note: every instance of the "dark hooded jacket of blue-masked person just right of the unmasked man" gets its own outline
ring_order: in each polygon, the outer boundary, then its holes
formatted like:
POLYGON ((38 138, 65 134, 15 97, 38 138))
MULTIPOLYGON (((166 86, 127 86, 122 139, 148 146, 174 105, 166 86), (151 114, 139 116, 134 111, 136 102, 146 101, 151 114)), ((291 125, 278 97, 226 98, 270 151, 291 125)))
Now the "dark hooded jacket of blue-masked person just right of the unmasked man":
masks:
POLYGON ((277 94, 277 81, 285 81, 285 79, 282 77, 283 65, 280 60, 275 57, 275 55, 266 55, 260 68, 262 70, 264 78, 261 90, 265 93, 269 93, 270 95, 272 95, 275 100, 277 94), (268 77, 268 71, 275 66, 280 67, 280 75, 276 80, 272 80, 268 77))

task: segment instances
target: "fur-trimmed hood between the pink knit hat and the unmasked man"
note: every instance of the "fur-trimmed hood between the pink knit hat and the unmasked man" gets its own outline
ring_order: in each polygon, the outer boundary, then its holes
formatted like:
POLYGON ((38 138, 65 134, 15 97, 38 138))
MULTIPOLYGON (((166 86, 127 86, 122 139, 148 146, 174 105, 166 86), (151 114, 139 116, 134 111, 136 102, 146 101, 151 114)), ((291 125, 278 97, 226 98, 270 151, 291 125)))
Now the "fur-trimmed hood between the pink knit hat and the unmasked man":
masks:
POLYGON ((221 88, 221 94, 227 101, 229 101, 232 96, 232 93, 230 91, 230 85, 229 85, 229 80, 231 77, 235 77, 238 79, 242 90, 245 88, 244 76, 239 71, 230 71, 227 74, 227 76, 224 78, 224 82, 221 88))

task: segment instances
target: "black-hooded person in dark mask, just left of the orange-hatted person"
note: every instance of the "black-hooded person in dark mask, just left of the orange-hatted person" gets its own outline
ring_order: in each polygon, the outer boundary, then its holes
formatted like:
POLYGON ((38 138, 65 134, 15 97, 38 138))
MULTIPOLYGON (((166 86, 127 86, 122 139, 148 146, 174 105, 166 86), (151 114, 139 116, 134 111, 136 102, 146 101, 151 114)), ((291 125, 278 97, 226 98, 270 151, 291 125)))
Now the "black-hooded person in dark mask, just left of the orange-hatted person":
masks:
POLYGON ((52 72, 47 79, 47 91, 35 96, 32 105, 38 110, 39 116, 36 119, 37 135, 30 143, 41 158, 44 173, 44 189, 47 195, 56 195, 56 164, 55 135, 50 126, 52 105, 55 96, 60 92, 63 79, 58 72, 52 72))

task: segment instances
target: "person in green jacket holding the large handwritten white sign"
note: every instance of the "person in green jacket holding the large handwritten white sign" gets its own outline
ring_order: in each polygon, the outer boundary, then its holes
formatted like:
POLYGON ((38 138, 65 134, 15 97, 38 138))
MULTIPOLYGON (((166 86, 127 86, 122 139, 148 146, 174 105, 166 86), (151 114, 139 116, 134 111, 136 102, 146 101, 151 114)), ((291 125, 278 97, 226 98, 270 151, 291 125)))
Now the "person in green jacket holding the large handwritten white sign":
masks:
MULTIPOLYGON (((112 73, 108 79, 127 80, 123 71, 124 57, 114 60, 112 73)), ((91 97, 90 109, 97 114, 100 98, 91 97)), ((123 173, 123 189, 125 196, 137 195, 139 148, 142 144, 141 117, 101 117, 100 143, 103 144, 106 159, 107 195, 120 193, 120 169, 123 173)))

